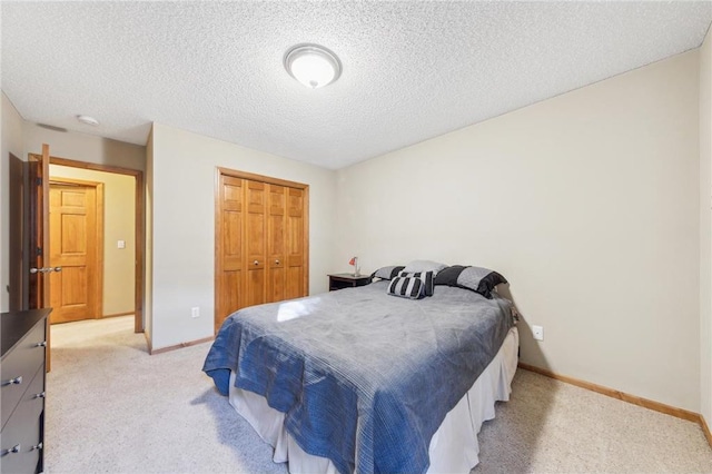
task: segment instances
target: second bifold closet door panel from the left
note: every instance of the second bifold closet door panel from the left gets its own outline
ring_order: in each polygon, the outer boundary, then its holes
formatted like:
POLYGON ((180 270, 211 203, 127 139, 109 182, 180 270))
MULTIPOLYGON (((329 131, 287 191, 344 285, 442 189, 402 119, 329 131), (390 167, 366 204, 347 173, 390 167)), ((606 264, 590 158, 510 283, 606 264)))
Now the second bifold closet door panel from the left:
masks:
POLYGON ((245 181, 245 203, 247 204, 245 245, 247 247, 246 306, 265 303, 267 254, 266 239, 266 198, 264 182, 245 181))

